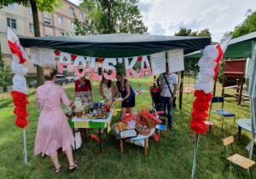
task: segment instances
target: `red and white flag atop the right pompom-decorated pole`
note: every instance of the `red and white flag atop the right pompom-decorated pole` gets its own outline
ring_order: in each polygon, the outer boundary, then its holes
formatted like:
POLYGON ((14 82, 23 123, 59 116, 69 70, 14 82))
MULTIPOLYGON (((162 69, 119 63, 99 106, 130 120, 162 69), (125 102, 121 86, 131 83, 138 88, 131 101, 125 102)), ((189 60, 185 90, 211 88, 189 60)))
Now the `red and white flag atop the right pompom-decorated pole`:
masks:
POLYGON ((214 60, 215 62, 217 62, 217 66, 214 68, 213 81, 217 78, 218 67, 219 67, 220 61, 221 61, 226 49, 228 48, 230 40, 231 40, 232 37, 233 37, 233 34, 230 35, 229 38, 226 38, 223 43, 218 44, 217 47, 216 47, 216 49, 218 49, 218 57, 217 57, 216 60, 214 60))

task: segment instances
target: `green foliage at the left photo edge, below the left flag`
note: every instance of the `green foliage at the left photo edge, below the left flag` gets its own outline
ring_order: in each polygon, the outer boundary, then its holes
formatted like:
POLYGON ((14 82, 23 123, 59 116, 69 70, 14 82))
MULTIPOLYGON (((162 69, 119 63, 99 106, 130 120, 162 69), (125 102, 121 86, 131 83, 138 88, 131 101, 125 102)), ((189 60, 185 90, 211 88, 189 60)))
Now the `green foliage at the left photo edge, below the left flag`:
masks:
POLYGON ((3 86, 3 92, 7 91, 7 85, 13 78, 13 72, 11 67, 3 61, 2 51, 0 50, 0 86, 3 86))

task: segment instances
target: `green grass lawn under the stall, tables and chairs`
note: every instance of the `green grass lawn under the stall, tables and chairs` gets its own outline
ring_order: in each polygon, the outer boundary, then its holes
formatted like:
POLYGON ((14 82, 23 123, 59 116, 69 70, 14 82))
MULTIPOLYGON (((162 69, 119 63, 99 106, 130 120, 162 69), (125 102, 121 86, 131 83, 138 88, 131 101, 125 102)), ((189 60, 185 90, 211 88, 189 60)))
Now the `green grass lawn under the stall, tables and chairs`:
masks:
MULTIPOLYGON (((131 86, 137 90, 138 84, 143 90, 148 90, 147 83, 152 83, 153 78, 131 78, 131 86)), ((184 87, 194 87, 194 78, 186 78, 184 87)), ((99 83, 94 82, 94 100, 100 100, 99 83)), ((219 84, 218 84, 219 86, 219 84)), ((70 99, 73 96, 73 85, 67 84, 63 88, 70 99)), ((235 90, 227 90, 234 94, 235 90)), ((220 95, 220 88, 217 94, 220 95)), ((0 178, 190 178, 193 157, 195 150, 195 134, 190 130, 190 112, 192 107, 193 94, 183 94, 183 109, 173 111, 174 130, 168 130, 168 136, 164 136, 159 142, 153 137, 148 140, 148 156, 144 156, 143 147, 134 144, 124 143, 124 153, 120 153, 119 141, 115 139, 112 132, 102 136, 102 154, 94 153, 99 148, 97 141, 92 141, 87 136, 87 141, 82 144, 77 152, 73 153, 74 160, 79 162, 79 167, 74 172, 68 172, 67 158, 59 153, 62 170, 58 175, 54 173, 54 165, 49 157, 42 158, 34 156, 34 140, 38 127, 38 109, 35 103, 35 89, 29 90, 29 102, 27 109, 30 123, 26 127, 26 144, 28 165, 23 163, 23 130, 15 125, 14 104, 9 92, 0 94, 0 178)), ((151 105, 149 92, 136 95, 136 108, 139 105, 151 105)), ((238 118, 250 118, 248 101, 242 106, 236 106, 235 98, 225 98, 224 108, 231 113, 236 113, 238 118)), ((178 103, 177 103, 178 105, 178 103)), ((214 106, 218 108, 218 105, 214 106)), ((213 108, 214 108, 213 107, 213 108)), ((220 107, 220 106, 219 106, 220 107)), ((63 107, 64 108, 64 107, 63 107)), ((117 123, 119 115, 113 118, 113 124, 117 123)), ((211 121, 214 123, 214 136, 209 133, 200 136, 198 154, 196 159, 196 178, 228 178, 230 170, 226 170, 221 176, 226 165, 224 161, 223 138, 235 136, 235 150, 243 156, 248 156, 245 149, 250 141, 250 133, 241 131, 241 141, 237 141, 237 125, 232 127, 233 118, 224 119, 224 130, 221 130, 221 121, 218 115, 212 113, 211 121)), ((98 130, 90 130, 90 133, 97 134, 98 130)), ((255 151, 255 150, 254 150, 255 151)), ((253 154, 255 160, 255 152, 253 154)), ((241 169, 242 178, 249 178, 246 170, 241 169)), ((253 174, 256 176, 256 167, 253 166, 253 174)), ((231 176, 237 178, 236 170, 231 169, 231 176)))

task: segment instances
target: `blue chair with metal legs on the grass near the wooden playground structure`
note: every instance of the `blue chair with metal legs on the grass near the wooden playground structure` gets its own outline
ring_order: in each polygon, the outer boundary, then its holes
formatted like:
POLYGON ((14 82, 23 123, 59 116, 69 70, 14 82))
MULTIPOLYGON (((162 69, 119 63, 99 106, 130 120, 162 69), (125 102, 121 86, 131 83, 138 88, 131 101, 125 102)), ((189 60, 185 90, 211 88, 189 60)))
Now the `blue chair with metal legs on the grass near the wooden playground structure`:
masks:
POLYGON ((228 111, 225 111, 223 108, 224 108, 224 97, 223 96, 213 96, 212 101, 211 101, 210 111, 209 111, 209 121, 210 121, 210 118, 211 118, 211 111, 212 111, 212 112, 217 113, 218 115, 221 116, 221 119, 222 119, 221 128, 222 129, 223 129, 223 122, 224 122, 225 117, 234 117, 234 123, 233 123, 233 127, 234 127, 235 121, 236 121, 236 115, 234 113, 230 113, 228 111), (221 107, 221 109, 212 110, 212 103, 216 103, 216 102, 221 102, 222 107, 221 107))

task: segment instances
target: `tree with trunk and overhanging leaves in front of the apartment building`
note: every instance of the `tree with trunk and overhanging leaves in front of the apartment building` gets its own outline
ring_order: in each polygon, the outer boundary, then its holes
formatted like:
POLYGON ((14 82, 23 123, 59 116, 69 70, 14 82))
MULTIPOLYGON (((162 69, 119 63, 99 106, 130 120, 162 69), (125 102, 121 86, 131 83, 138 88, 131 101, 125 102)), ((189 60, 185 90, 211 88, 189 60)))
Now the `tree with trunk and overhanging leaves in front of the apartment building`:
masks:
MULTIPOLYGON (((17 3, 26 7, 31 6, 35 37, 40 37, 38 10, 41 12, 54 13, 55 8, 60 9, 63 7, 61 0, 4 0, 0 1, 0 9, 3 8, 3 6, 8 6, 10 3, 17 3)), ((43 67, 37 66, 37 76, 38 86, 44 84, 43 67)))

